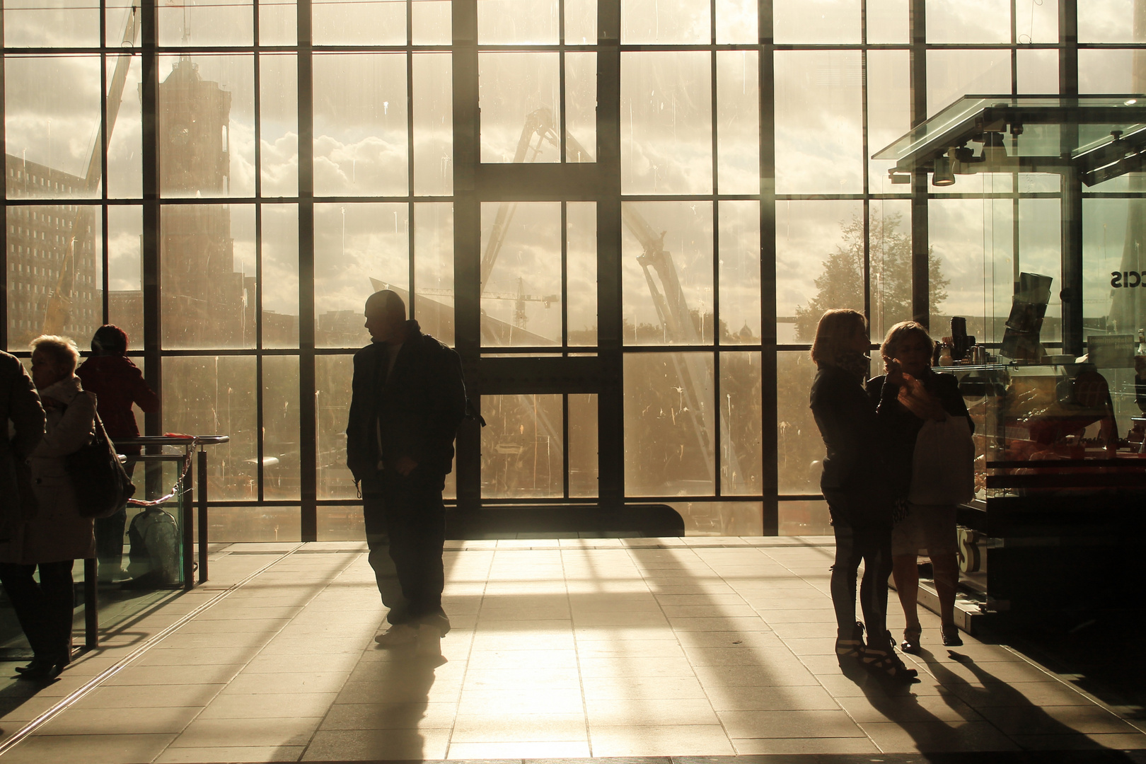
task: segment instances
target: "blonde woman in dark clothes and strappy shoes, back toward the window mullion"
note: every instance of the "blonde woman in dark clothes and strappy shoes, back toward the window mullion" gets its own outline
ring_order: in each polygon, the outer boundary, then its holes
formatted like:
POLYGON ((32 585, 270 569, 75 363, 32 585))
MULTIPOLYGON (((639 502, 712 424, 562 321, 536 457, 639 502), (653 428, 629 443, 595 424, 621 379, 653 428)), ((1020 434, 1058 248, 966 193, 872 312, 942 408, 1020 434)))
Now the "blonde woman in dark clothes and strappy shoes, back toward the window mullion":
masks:
POLYGON ((892 572, 892 496, 877 441, 876 407, 864 394, 870 359, 868 321, 855 310, 827 310, 816 326, 811 412, 826 455, 819 486, 835 534, 832 605, 835 655, 843 667, 862 661, 879 676, 910 682, 917 671, 895 654, 887 631, 887 577, 892 572), (856 621, 856 577, 864 564, 856 621), (868 643, 863 632, 866 624, 868 643))

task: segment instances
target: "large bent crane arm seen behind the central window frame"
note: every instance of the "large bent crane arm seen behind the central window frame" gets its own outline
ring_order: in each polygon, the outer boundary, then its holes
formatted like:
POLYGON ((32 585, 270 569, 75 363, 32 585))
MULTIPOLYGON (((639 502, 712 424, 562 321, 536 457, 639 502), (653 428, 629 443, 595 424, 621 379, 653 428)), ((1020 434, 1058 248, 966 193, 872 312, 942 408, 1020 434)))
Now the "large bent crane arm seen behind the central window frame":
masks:
MULTIPOLYGON (((532 111, 525 118, 525 125, 521 128, 521 137, 518 140, 513 162, 534 162, 542 151, 547 150, 547 147, 560 151, 558 129, 550 109, 542 107, 532 111)), ((565 132, 565 144, 571 152, 583 157, 592 156, 568 131, 565 132)), ((497 262, 497 255, 505 242, 505 236, 516 211, 516 203, 503 202, 497 208, 497 214, 494 216, 489 241, 481 255, 482 290, 485 290, 486 281, 489 274, 493 273, 494 265, 497 262)), ((649 288, 649 296, 657 310, 657 316, 665 328, 666 339, 672 344, 680 345, 699 344, 701 338, 696 324, 692 322, 692 312, 689 309, 688 299, 684 296, 684 290, 681 288, 676 263, 673 260, 672 253, 665 249, 665 235, 667 231, 658 234, 649 221, 637 212, 633 204, 621 205, 621 222, 623 222, 625 227, 629 229, 629 233, 641 244, 642 251, 637 255, 637 263, 639 263, 644 274, 645 284, 649 288)), ((701 389, 702 380, 709 376, 708 369, 697 353, 673 353, 670 357, 676 378, 680 380, 677 392, 681 396, 682 413, 686 412, 692 420, 692 432, 697 439, 697 447, 705 457, 704 462, 708 467, 709 479, 713 479, 715 476, 713 474, 715 465, 713 450, 715 443, 709 442, 707 438, 707 428, 700 416, 701 408, 698 397, 698 391, 701 389)), ((716 409, 716 416, 721 417, 722 432, 730 432, 730 415, 720 405, 715 405, 714 408, 716 409)), ((545 424, 548 427, 549 424, 545 424)), ((550 432, 554 431, 550 428, 550 432)), ((727 454, 728 458, 725 462, 729 473, 743 475, 739 457, 731 442, 731 438, 728 441, 727 454)))

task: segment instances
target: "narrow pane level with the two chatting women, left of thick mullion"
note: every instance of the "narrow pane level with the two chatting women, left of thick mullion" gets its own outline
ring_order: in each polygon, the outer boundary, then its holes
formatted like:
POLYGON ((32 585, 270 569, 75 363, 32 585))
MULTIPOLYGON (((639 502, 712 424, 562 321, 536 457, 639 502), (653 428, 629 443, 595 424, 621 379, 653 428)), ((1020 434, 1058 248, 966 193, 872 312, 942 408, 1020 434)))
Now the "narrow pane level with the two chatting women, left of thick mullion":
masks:
POLYGON ((760 353, 721 353, 721 494, 762 494, 763 431, 760 353))

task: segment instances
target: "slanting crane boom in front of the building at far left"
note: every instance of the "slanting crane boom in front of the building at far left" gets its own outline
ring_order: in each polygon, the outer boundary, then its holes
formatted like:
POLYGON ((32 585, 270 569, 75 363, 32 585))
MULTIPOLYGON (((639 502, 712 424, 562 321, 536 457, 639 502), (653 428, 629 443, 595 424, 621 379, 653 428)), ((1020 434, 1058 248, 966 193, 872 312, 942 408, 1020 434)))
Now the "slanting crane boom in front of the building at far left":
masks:
MULTIPOLYGON (((127 13, 127 24, 124 29, 121 46, 131 48, 135 45, 135 36, 139 33, 139 6, 132 5, 127 13)), ((131 68, 132 54, 121 53, 116 57, 116 69, 111 74, 108 88, 108 121, 107 135, 111 139, 111 128, 116 125, 116 117, 119 116, 119 105, 124 101, 124 86, 127 82, 127 70, 131 68)), ((104 126, 100 125, 95 133, 95 143, 87 162, 87 172, 84 175, 84 195, 94 196, 100 186, 101 167, 104 144, 104 126)), ((65 326, 71 322, 72 296, 76 291, 76 247, 83 246, 84 239, 91 236, 95 229, 95 214, 92 207, 79 205, 76 207, 76 216, 71 225, 71 235, 68 237, 68 246, 64 250, 64 261, 60 266, 60 277, 56 279, 56 289, 48 298, 47 309, 44 312, 42 333, 62 334, 65 326)))

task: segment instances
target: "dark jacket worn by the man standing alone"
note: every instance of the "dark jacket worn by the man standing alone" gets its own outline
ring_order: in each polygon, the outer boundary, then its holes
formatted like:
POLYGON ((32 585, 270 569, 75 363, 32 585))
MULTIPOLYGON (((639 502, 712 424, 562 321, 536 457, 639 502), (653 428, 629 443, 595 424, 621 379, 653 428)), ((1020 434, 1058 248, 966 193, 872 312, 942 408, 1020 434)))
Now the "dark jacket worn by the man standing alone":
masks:
POLYGON ((441 475, 453 468, 454 435, 465 416, 462 361, 423 334, 416 321, 406 325, 407 338, 388 380, 388 344, 374 342, 354 354, 346 466, 355 481, 375 474, 379 433, 385 468, 403 456, 441 475))

